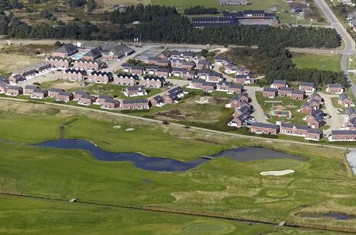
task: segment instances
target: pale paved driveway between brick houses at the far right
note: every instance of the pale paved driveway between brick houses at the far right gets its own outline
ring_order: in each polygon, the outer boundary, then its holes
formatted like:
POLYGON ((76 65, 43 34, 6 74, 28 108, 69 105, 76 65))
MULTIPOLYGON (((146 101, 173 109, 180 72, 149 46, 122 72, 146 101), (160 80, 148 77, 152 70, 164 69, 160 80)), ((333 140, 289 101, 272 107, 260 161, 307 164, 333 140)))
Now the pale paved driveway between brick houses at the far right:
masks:
POLYGON ((326 125, 330 125, 328 130, 325 130, 326 135, 331 134, 331 130, 340 130, 340 127, 344 124, 344 115, 336 113, 336 108, 334 108, 331 98, 337 98, 337 95, 320 94, 324 98, 324 108, 325 113, 328 113, 331 117, 326 119, 326 125))

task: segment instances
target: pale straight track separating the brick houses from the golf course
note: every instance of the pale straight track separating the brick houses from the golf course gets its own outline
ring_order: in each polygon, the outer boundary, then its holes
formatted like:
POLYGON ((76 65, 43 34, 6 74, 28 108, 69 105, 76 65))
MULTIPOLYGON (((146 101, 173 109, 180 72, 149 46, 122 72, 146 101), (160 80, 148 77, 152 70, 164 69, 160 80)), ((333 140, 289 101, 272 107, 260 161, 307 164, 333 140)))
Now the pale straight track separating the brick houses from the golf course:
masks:
MULTIPOLYGON (((0 100, 11 100, 11 101, 16 101, 16 102, 28 102, 29 100, 21 100, 21 99, 17 99, 17 98, 6 98, 6 97, 0 97, 0 100)), ((96 110, 96 109, 92 109, 92 108, 86 108, 86 107, 79 107, 79 106, 73 106, 73 105, 64 105, 64 104, 59 104, 59 103, 48 103, 48 102, 43 102, 43 101, 39 101, 41 103, 44 103, 46 105, 53 105, 53 106, 60 106, 60 107, 65 107, 65 108, 73 108, 73 109, 77 109, 77 110, 87 110, 90 112, 97 112, 97 113, 105 113, 108 115, 114 115, 114 116, 119 116, 119 117, 128 117, 128 118, 133 118, 133 119, 137 119, 137 120, 145 120, 147 122, 156 122, 156 123, 162 123, 162 121, 160 120, 152 120, 149 118, 145 118, 145 117, 136 117, 133 115, 127 115, 127 114, 123 114, 123 113, 112 113, 110 111, 105 111, 105 110, 96 110)), ((185 127, 185 125, 181 125, 181 124, 177 124, 177 123, 170 123, 170 125, 174 125, 177 127, 182 127, 184 128, 184 130, 187 130, 187 128, 185 127)), ((210 130, 210 129, 206 129, 206 128, 201 128, 201 127, 191 127, 188 130, 199 130, 201 132, 210 132, 210 133, 215 133, 215 134, 219 134, 219 135, 228 135, 228 136, 234 136, 234 137, 248 137, 250 139, 254 139, 254 140, 265 140, 266 142, 288 142, 291 144, 296 144, 296 145, 310 145, 310 146, 317 146, 317 147, 330 147, 330 148, 334 148, 334 149, 341 149, 341 150, 347 150, 347 147, 340 147, 340 146, 333 146, 333 145, 325 145, 325 144, 317 144, 317 143, 309 143, 309 142, 298 142, 298 141, 293 141, 293 140, 278 140, 278 139, 266 139, 263 137, 258 137, 258 136, 246 136, 246 135, 239 135, 239 134, 235 134, 235 133, 231 133, 231 132, 221 132, 219 130, 210 130)))

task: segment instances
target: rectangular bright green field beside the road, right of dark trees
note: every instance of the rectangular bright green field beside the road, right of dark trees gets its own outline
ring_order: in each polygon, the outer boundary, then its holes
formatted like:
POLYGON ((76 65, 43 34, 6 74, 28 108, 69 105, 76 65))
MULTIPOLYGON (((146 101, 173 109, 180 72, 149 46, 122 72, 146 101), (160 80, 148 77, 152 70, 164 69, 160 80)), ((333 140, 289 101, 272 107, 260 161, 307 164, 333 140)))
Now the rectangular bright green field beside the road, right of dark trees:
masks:
POLYGON ((293 53, 292 61, 297 68, 317 68, 325 71, 341 72, 340 54, 293 53))

